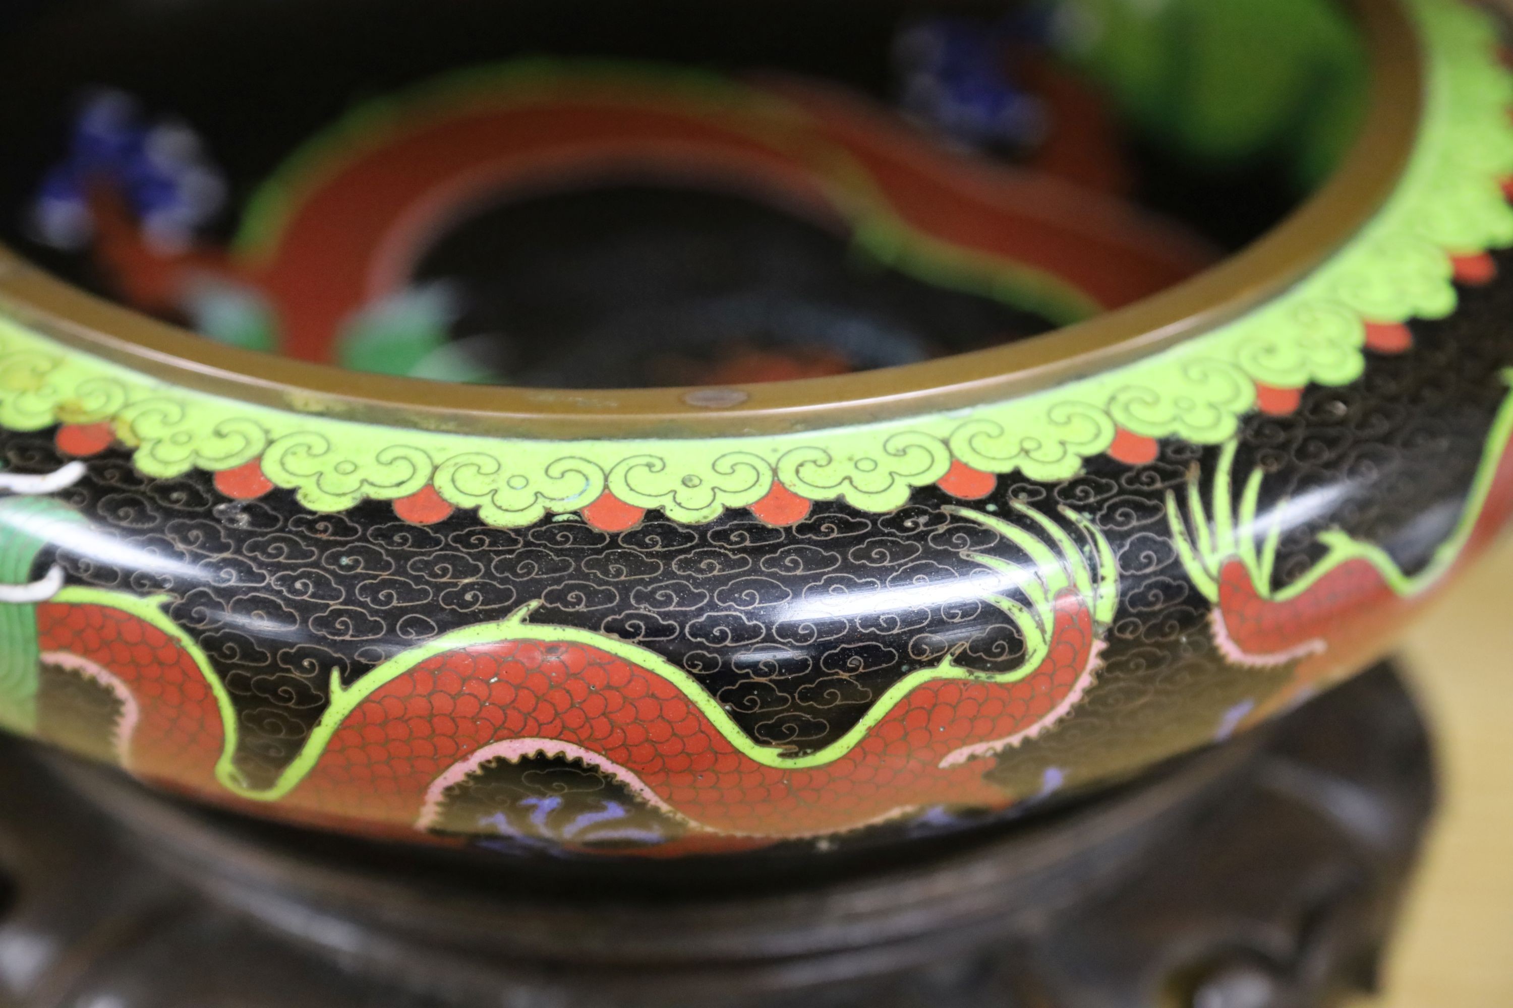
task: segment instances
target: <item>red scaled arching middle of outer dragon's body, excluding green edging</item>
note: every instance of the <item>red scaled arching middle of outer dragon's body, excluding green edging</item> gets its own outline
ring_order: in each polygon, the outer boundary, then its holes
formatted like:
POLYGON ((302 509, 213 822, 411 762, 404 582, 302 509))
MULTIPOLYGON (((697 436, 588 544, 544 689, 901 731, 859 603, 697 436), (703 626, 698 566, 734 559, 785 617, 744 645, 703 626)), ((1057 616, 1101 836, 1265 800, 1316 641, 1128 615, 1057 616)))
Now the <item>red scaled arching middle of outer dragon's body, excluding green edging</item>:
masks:
POLYGON ((1088 603, 1056 600, 1050 653, 1012 685, 915 688, 861 742, 808 769, 740 751, 672 680, 604 650, 499 641, 439 654, 353 710, 284 799, 368 821, 431 825, 449 784, 490 759, 566 756, 716 833, 835 833, 927 804, 1002 807, 982 756, 1065 713, 1092 673, 1088 603))

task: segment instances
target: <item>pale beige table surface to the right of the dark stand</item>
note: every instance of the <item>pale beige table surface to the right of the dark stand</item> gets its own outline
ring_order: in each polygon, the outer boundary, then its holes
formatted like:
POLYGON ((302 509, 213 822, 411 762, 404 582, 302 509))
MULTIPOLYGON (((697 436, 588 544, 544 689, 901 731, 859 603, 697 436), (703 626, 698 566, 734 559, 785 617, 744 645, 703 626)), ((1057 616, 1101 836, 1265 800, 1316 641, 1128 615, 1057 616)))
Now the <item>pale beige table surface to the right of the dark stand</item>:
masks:
POLYGON ((1513 1008, 1513 540, 1404 651, 1434 725, 1443 807, 1371 1008, 1513 1008))

